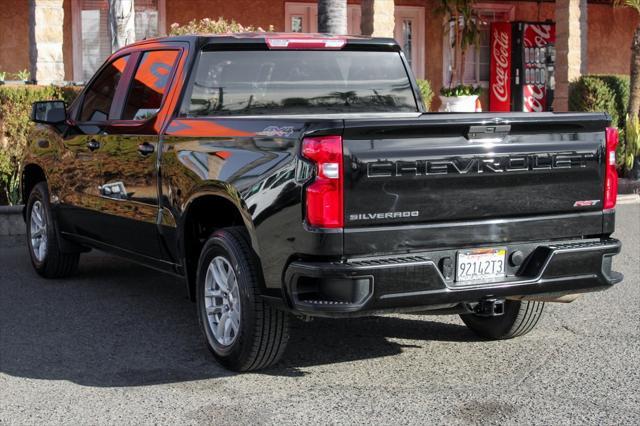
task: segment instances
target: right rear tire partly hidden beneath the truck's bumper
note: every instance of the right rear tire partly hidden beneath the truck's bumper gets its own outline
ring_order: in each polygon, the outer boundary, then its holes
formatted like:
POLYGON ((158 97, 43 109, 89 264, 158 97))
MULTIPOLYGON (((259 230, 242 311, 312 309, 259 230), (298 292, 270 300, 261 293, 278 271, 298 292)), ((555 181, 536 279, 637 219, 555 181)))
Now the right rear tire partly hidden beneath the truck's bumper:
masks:
POLYGON ((504 314, 500 316, 464 314, 460 318, 481 337, 491 340, 512 339, 533 330, 542 316, 543 308, 544 302, 506 300, 504 314))

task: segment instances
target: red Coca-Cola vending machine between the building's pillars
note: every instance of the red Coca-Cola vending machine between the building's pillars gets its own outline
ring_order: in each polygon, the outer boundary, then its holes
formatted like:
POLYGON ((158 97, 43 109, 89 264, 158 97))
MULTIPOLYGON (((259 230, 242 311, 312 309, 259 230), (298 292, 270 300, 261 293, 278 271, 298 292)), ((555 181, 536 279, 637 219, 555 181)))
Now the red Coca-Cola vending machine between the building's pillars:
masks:
POLYGON ((491 24, 490 111, 551 111, 555 42, 551 22, 491 24))

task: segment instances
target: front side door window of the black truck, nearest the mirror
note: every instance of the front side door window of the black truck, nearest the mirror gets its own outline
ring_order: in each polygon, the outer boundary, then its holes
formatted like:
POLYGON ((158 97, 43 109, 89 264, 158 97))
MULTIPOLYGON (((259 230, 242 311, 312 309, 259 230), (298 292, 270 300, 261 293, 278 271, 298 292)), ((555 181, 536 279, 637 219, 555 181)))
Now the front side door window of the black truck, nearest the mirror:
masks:
POLYGON ((87 88, 80 110, 80 121, 107 121, 113 97, 129 55, 121 56, 109 63, 87 88))

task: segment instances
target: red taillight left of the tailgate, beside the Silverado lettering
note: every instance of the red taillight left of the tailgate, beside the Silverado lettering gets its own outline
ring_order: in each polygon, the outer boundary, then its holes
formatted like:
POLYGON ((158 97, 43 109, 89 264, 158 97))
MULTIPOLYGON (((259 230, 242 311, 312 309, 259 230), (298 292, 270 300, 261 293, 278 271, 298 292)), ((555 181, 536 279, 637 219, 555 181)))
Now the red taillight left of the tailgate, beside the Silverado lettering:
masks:
POLYGON ((319 228, 342 228, 342 137, 305 138, 302 155, 316 165, 315 179, 307 186, 307 223, 319 228))

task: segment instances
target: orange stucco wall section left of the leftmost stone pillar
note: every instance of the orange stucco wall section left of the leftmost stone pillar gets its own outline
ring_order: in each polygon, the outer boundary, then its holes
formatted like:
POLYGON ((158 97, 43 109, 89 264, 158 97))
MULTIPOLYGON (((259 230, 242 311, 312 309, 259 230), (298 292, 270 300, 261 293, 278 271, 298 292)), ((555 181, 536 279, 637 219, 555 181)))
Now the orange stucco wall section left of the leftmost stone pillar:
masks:
POLYGON ((28 68, 29 2, 0 0, 0 71, 14 73, 28 68))

